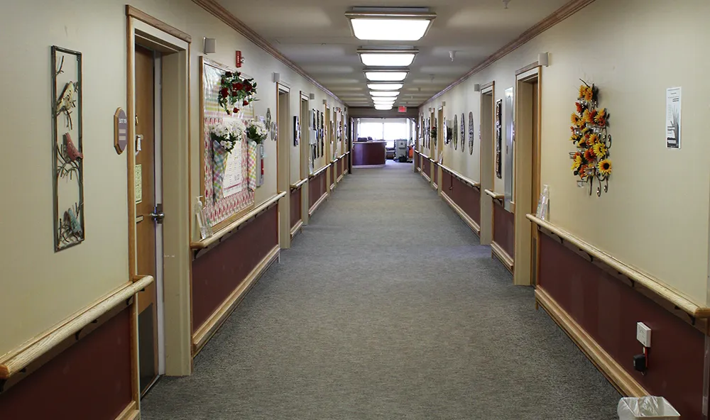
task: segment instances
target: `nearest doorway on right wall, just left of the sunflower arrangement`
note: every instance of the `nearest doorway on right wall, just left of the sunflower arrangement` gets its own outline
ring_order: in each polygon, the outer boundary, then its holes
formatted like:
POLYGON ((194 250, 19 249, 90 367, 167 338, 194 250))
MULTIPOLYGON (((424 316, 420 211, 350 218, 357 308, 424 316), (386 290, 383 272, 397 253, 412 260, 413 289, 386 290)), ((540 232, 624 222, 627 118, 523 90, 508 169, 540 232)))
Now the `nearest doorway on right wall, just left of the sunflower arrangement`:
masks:
POLYGON ((515 284, 537 283, 537 228, 527 218, 535 214, 540 196, 540 67, 517 75, 515 86, 515 284), (523 255, 529 258, 523 258, 523 255))

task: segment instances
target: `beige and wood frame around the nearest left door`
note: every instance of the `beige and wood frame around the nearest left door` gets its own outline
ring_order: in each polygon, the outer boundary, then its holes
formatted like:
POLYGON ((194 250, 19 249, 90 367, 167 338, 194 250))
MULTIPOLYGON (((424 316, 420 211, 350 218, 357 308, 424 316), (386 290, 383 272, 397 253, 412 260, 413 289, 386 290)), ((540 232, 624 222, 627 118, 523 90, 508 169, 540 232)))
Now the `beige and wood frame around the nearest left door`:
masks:
MULTIPOLYGON (((136 258, 136 165, 135 138, 135 53, 136 44, 162 53, 162 138, 171 138, 170 147, 163 141, 163 204, 168 216, 163 223, 164 282, 164 343, 165 374, 190 375, 190 45, 192 38, 142 11, 126 6, 126 114, 128 138, 126 169, 128 180, 128 258, 129 276, 138 280, 136 258)), ((136 306, 137 309, 137 306, 136 306)), ((133 398, 140 404, 138 385, 138 324, 137 311, 131 314, 131 365, 133 398)))

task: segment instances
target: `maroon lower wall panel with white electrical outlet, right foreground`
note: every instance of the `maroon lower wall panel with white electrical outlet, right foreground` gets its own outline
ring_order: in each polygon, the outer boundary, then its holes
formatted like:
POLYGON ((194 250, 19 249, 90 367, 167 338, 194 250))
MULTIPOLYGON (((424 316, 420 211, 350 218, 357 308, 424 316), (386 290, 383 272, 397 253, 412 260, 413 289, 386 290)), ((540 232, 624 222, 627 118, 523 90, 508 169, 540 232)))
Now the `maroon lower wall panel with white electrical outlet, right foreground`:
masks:
POLYGON ((660 395, 682 419, 701 419, 705 336, 648 297, 540 233, 538 287, 599 343, 652 395, 660 395), (636 323, 653 331, 649 370, 633 369, 642 352, 636 323))

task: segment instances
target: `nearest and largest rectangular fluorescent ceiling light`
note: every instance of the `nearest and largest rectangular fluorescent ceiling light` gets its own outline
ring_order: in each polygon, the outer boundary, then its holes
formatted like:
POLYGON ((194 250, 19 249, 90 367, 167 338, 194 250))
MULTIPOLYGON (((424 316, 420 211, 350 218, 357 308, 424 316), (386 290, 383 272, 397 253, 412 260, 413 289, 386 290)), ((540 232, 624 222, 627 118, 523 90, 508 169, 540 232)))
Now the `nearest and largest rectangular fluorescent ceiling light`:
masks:
POLYGON ((361 40, 420 40, 429 31, 436 13, 426 8, 353 8, 345 13, 353 35, 361 40))

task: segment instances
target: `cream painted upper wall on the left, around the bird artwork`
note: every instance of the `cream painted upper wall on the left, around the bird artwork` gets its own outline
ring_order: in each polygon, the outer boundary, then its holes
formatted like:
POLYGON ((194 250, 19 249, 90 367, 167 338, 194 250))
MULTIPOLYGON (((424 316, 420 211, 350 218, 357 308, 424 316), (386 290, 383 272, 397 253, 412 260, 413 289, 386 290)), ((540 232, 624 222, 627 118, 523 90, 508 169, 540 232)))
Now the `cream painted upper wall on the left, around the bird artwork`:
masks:
MULTIPOLYGON (((113 115, 126 109, 125 1, 28 0, 8 2, 0 15, 0 126, 11 158, 0 169, 0 234, 5 239, 0 264, 0 355, 50 328, 111 292, 128 279, 126 154, 113 148, 113 115), (84 62, 84 197, 86 241, 53 251, 50 46, 79 50, 84 62)), ((312 92, 312 107, 337 101, 267 52, 231 30, 190 0, 136 0, 142 11, 192 35, 190 92, 192 117, 192 193, 200 179, 199 56, 202 37, 217 38, 212 60, 234 63, 234 50, 246 58, 242 70, 256 78, 256 113, 276 109, 279 72, 292 89, 292 114, 298 92, 312 92), (295 94, 294 94, 295 92, 295 94), (320 105, 317 105, 320 104, 320 105)), ((291 135, 291 134, 289 134, 291 135)), ((256 201, 276 192, 276 143, 266 143, 266 182, 256 201)))

